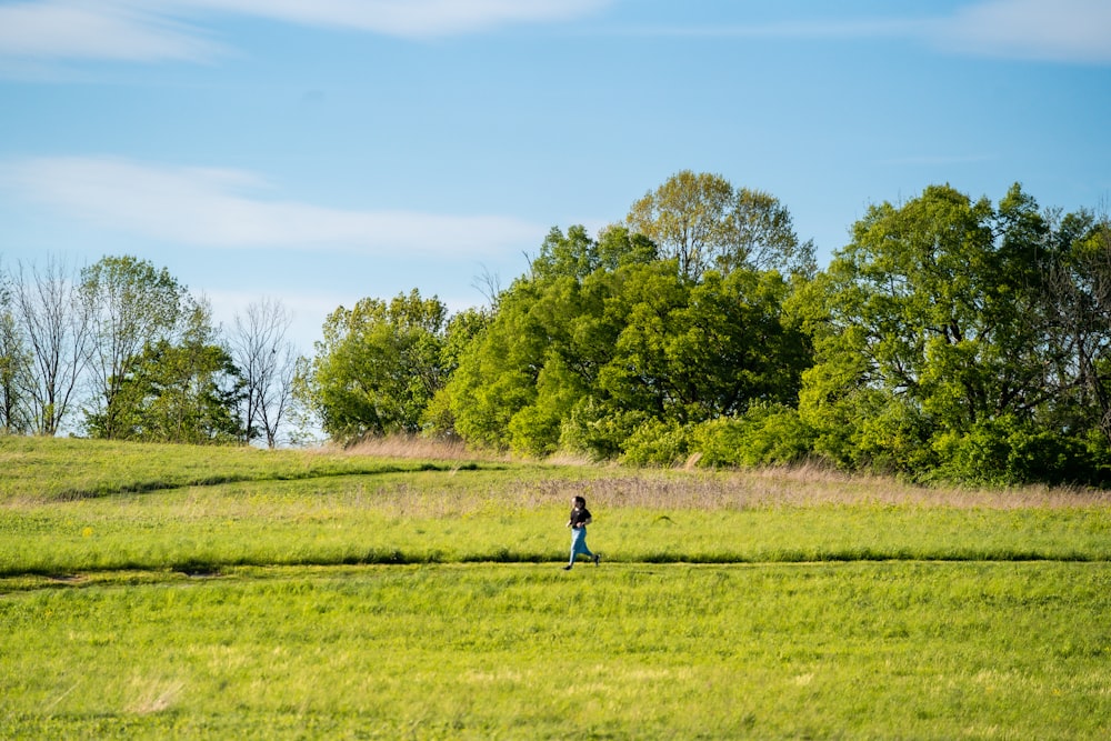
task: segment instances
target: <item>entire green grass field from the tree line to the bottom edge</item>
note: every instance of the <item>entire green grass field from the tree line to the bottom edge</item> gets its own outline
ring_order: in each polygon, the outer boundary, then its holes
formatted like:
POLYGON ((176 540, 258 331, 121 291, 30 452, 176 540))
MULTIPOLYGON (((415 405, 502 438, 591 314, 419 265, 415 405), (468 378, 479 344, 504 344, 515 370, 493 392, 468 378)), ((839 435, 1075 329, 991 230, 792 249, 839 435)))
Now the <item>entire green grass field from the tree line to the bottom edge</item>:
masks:
POLYGON ((0 439, 0 738, 1101 739, 1100 492, 0 439), (569 499, 600 568, 564 572, 569 499))

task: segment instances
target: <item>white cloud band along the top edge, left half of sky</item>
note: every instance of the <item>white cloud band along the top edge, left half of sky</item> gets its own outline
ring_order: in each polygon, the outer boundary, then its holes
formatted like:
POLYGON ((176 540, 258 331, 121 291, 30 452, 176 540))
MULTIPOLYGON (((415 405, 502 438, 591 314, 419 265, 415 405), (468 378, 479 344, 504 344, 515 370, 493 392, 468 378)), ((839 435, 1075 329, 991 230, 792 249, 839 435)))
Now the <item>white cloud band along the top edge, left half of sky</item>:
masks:
POLYGON ((202 60, 218 53, 201 27, 217 16, 406 38, 558 21, 612 0, 24 0, 0 4, 0 58, 202 60))

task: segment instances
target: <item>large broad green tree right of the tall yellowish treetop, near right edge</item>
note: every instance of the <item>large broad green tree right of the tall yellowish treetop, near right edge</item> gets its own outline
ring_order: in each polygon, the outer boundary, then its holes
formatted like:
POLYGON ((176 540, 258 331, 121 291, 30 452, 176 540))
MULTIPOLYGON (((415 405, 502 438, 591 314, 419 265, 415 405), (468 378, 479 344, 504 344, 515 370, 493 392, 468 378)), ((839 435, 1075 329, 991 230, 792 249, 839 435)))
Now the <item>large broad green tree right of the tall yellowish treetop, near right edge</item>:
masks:
POLYGON ((869 209, 792 307, 814 338, 800 412, 815 450, 925 477, 953 440, 1002 434, 998 420, 1044 424, 1060 367, 1045 341, 1047 234, 1018 186, 998 208, 934 186, 869 209))

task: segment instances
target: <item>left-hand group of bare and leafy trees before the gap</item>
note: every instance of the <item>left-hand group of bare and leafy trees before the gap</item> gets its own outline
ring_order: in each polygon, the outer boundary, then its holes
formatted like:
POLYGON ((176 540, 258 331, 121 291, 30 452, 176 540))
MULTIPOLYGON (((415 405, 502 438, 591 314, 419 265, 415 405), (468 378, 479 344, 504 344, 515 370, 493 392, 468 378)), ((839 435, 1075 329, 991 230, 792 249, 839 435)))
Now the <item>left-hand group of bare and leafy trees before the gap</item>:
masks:
POLYGON ((0 431, 272 448, 294 429, 291 319, 263 299, 224 332, 129 256, 0 266, 0 431))

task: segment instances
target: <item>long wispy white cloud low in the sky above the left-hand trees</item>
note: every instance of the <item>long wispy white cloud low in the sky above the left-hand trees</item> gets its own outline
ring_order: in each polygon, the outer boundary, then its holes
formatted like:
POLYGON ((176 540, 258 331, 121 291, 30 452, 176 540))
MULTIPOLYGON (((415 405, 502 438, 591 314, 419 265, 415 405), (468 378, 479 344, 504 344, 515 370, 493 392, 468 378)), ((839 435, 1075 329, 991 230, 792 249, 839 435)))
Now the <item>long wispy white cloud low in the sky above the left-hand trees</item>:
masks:
POLYGON ((0 168, 0 187, 63 216, 179 244, 476 257, 534 244, 547 231, 509 217, 352 211, 248 194, 264 186, 237 170, 121 159, 41 158, 0 168))

